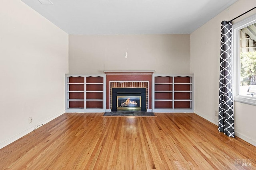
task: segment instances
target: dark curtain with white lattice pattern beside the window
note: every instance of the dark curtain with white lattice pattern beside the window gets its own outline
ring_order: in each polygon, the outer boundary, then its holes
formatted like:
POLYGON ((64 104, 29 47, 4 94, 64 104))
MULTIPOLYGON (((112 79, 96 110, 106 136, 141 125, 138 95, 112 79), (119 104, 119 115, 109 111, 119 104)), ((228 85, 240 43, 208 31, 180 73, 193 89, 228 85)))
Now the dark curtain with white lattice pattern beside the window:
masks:
POLYGON ((234 107, 232 94, 232 23, 221 23, 220 46, 220 96, 219 96, 219 128, 228 137, 235 137, 234 107))

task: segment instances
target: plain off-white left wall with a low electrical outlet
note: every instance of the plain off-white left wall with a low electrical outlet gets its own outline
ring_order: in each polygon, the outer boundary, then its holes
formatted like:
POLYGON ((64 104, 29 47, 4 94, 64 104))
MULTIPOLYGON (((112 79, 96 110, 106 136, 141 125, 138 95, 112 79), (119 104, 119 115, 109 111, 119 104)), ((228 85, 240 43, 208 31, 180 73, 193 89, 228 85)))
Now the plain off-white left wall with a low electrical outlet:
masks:
POLYGON ((0 25, 2 148, 64 113, 68 34, 20 0, 1 1, 0 25))

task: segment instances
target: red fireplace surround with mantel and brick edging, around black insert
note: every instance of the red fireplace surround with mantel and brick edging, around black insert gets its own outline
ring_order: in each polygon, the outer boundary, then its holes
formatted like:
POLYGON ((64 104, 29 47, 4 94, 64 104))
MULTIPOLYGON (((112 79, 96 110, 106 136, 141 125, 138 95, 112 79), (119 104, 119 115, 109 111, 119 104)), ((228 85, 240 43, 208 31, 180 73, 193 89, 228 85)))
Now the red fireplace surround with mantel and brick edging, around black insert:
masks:
POLYGON ((146 109, 152 110, 152 75, 154 71, 104 71, 106 74, 106 109, 112 108, 112 88, 146 88, 146 109))

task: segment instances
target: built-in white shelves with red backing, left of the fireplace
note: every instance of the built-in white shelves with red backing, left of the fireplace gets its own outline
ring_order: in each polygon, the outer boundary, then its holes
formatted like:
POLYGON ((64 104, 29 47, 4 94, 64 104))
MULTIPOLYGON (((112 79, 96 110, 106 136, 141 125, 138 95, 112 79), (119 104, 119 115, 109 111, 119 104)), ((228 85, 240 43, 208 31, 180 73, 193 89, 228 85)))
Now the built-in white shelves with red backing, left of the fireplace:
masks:
POLYGON ((66 112, 104 112, 105 74, 66 74, 66 112))

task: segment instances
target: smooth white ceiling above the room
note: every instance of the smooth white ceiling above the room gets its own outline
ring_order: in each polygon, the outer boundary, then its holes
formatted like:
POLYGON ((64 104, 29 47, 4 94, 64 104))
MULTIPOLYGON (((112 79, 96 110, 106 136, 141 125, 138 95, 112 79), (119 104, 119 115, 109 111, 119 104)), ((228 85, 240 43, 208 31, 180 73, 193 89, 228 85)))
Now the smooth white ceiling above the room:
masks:
POLYGON ((22 0, 68 34, 192 33, 237 0, 22 0))

